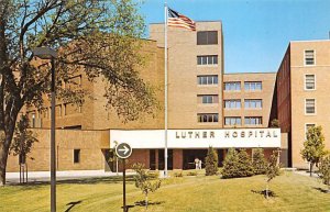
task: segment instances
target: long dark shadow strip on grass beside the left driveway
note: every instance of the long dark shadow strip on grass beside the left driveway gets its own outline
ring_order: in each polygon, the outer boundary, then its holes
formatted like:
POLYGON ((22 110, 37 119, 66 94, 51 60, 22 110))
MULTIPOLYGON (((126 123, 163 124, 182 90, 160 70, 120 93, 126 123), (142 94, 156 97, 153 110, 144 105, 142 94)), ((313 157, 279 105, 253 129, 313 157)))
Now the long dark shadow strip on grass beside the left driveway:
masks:
MULTIPOLYGON (((125 181, 128 183, 134 182, 134 176, 127 176, 125 181)), ((67 178, 67 179, 57 179, 56 185, 97 185, 97 183, 122 183, 121 176, 113 177, 81 177, 81 178, 67 178)), ((29 181, 28 183, 20 185, 19 182, 11 182, 10 186, 22 187, 23 190, 35 189, 37 187, 47 186, 50 181, 29 181)))

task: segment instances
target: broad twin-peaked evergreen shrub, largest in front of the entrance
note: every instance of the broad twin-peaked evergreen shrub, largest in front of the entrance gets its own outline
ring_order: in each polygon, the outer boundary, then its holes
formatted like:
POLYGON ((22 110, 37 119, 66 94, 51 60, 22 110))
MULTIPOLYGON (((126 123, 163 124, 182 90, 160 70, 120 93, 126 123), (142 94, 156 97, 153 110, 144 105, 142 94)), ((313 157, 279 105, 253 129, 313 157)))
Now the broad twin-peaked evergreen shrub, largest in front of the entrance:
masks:
POLYGON ((238 178, 253 176, 253 167, 251 158, 245 149, 239 153, 234 148, 230 148, 221 171, 222 178, 238 178))

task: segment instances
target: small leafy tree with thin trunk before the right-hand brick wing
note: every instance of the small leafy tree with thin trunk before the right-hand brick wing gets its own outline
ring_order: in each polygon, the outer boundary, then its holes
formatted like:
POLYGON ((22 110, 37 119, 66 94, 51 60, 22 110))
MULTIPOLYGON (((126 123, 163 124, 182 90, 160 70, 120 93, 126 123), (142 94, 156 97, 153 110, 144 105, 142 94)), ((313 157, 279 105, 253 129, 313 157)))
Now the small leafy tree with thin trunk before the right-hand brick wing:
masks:
POLYGON ((300 154, 304 159, 309 161, 309 175, 311 177, 314 165, 318 165, 326 154, 322 126, 311 126, 308 129, 306 141, 304 142, 304 148, 300 154))

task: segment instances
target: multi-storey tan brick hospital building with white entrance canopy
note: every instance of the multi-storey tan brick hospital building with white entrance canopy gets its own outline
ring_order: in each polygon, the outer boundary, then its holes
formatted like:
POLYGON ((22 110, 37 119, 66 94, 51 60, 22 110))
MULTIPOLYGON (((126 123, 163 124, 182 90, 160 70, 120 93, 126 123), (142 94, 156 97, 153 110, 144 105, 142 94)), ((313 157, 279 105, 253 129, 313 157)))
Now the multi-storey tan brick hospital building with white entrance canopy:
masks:
MULTIPOLYGON (((266 157, 280 149, 287 167, 307 167, 300 149, 306 131, 321 125, 330 148, 330 41, 290 42, 276 72, 226 74, 222 24, 197 22, 196 32, 168 27, 168 168, 194 167, 212 146, 221 166, 229 148, 264 148, 266 157), (271 127, 278 119, 279 129, 271 127)), ((164 104, 164 23, 150 25, 143 41, 150 58, 141 77, 158 88, 164 104)), ((105 109, 105 85, 76 76, 94 100, 82 107, 56 104, 57 170, 114 170, 109 161, 117 143, 129 143, 129 163, 164 169, 164 107, 154 116, 122 123, 105 109)), ((29 170, 50 169, 50 105, 28 110, 38 143, 29 155, 29 170), (33 158, 33 159, 31 159, 33 158)), ((8 171, 19 170, 18 157, 10 156, 8 171)))

